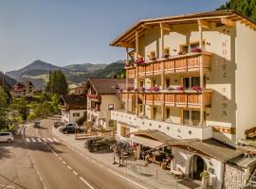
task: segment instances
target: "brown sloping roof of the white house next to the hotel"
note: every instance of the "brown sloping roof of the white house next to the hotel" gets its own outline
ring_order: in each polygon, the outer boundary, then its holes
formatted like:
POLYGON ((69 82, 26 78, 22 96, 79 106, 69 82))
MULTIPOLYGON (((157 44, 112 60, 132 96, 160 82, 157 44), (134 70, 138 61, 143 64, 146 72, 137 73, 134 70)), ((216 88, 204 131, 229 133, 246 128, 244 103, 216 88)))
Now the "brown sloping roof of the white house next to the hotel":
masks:
POLYGON ((116 94, 117 86, 125 84, 125 78, 88 78, 97 94, 116 94))

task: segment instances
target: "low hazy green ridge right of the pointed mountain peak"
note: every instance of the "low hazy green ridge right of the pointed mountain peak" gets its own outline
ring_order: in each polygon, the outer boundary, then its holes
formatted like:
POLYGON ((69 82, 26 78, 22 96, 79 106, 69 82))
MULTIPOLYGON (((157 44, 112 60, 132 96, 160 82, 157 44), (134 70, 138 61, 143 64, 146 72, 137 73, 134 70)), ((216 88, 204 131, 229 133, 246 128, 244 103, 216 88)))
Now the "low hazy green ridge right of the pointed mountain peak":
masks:
POLYGON ((82 64, 71 64, 66 65, 64 68, 72 72, 94 72, 99 69, 106 67, 106 64, 92 64, 92 63, 82 63, 82 64))

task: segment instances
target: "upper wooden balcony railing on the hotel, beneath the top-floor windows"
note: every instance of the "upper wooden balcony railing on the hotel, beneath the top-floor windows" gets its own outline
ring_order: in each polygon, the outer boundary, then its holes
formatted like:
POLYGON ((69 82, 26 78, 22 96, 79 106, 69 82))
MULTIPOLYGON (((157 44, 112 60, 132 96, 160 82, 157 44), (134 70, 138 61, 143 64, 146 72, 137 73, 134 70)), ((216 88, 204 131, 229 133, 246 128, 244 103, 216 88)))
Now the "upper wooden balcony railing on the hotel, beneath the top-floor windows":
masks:
POLYGON ((188 53, 178 55, 164 60, 145 61, 137 64, 136 67, 128 67, 128 77, 148 77, 161 74, 161 63, 163 63, 163 74, 180 73, 180 72, 199 72, 200 59, 202 58, 205 71, 210 70, 211 53, 188 53))

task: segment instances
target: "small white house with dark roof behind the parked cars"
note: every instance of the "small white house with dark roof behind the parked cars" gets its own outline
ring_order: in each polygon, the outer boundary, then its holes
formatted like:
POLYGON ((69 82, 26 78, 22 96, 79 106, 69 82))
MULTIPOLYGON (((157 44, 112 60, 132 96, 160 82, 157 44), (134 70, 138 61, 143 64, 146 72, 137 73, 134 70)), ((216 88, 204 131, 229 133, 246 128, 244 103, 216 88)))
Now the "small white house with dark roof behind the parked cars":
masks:
POLYGON ((86 117, 86 98, 80 94, 62 94, 59 99, 62 122, 72 123, 86 117))

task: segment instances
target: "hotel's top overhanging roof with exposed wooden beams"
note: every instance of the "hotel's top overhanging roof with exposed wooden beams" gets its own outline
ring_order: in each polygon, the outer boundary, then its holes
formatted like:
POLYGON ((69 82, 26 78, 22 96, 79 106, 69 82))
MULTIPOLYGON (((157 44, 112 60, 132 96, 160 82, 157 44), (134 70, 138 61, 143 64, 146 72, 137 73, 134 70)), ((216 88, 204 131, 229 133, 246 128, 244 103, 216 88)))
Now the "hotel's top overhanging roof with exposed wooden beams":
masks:
MULTIPOLYGON (((222 18, 229 19, 230 21, 237 22, 241 21, 247 26, 256 29, 256 23, 242 15, 241 13, 235 10, 214 10, 208 12, 197 12, 192 14, 184 14, 178 16, 167 16, 154 19, 144 19, 137 22, 137 24, 131 26, 129 29, 124 31, 119 35, 117 39, 112 41, 110 45, 121 46, 121 43, 126 43, 126 47, 134 47, 130 43, 131 39, 135 39, 136 31, 138 33, 143 33, 147 28, 152 26, 167 24, 167 25, 176 25, 176 24, 188 24, 188 23, 197 23, 198 20, 207 20, 209 22, 221 22, 222 18), (128 46, 127 46, 128 45, 128 46)), ((134 45, 134 44, 133 44, 134 45)), ((123 45, 125 46, 125 45, 123 45)))

